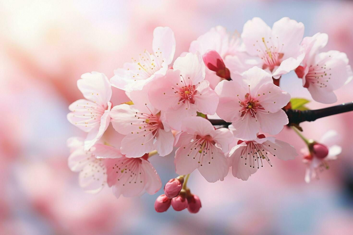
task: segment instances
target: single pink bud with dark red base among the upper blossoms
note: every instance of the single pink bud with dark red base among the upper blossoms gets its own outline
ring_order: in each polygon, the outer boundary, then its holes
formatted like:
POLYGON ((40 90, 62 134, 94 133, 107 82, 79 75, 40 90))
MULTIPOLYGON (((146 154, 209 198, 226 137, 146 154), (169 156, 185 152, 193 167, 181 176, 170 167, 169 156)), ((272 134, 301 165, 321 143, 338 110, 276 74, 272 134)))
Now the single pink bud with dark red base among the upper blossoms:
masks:
POLYGON ((202 56, 202 58, 207 68, 216 72, 217 76, 220 76, 221 78, 225 79, 231 78, 229 69, 226 68, 222 57, 218 54, 217 51, 209 50, 202 56))

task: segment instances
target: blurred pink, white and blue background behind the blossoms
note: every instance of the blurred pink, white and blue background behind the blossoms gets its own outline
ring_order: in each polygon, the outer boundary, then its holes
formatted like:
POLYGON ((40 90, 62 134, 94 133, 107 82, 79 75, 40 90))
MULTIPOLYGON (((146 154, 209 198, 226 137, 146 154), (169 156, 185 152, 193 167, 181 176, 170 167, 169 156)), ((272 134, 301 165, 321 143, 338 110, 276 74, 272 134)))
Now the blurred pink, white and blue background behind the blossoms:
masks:
MULTIPOLYGON (((258 16, 272 25, 288 16, 305 25, 305 36, 329 35, 327 50, 353 61, 353 1, 0 1, 0 233, 1 234, 352 234, 353 113, 303 123, 304 135, 340 133, 339 160, 320 180, 304 182, 302 156, 274 159, 247 181, 231 174, 208 183, 196 171, 189 187, 202 201, 198 214, 154 211, 155 198, 116 199, 110 188, 86 194, 67 167, 66 139, 82 135, 66 120, 81 98, 80 75, 113 70, 144 49, 152 31, 169 26, 176 55, 216 25, 241 33, 258 16)), ((175 58, 175 57, 174 57, 175 58)), ((352 62, 351 62, 352 65, 352 62)), ((292 97, 310 99, 292 72, 281 79, 292 97)), ((353 82, 336 91, 353 99, 353 82)), ((311 109, 325 107, 314 101, 311 109)), ((291 129, 279 135, 299 151, 291 129)), ((173 155, 151 163, 163 184, 175 177, 173 155)))

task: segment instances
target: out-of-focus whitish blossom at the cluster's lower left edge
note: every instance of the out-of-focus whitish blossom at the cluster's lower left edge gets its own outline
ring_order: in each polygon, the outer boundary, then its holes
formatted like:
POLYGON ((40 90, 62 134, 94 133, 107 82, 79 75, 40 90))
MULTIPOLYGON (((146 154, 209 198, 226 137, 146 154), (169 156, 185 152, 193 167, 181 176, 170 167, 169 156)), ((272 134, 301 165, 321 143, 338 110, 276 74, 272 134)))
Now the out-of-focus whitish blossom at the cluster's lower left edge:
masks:
POLYGON ((83 139, 71 137, 67 146, 71 154, 68 157, 68 167, 73 172, 79 172, 79 185, 86 192, 97 193, 107 184, 104 159, 97 159, 90 151, 85 151, 83 139))

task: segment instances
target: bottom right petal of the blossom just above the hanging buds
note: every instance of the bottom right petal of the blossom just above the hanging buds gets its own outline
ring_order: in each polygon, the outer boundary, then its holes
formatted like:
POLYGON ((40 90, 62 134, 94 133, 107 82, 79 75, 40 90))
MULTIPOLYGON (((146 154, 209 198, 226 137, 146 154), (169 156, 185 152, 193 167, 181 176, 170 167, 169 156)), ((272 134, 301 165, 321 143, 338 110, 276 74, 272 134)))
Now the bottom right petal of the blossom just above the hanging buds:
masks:
POLYGON ((203 157, 202 163, 198 167, 198 171, 202 176, 210 183, 214 183, 217 180, 224 180, 227 176, 229 168, 228 162, 221 149, 211 146, 210 151, 213 154, 210 155, 213 159, 207 159, 206 156, 203 157))

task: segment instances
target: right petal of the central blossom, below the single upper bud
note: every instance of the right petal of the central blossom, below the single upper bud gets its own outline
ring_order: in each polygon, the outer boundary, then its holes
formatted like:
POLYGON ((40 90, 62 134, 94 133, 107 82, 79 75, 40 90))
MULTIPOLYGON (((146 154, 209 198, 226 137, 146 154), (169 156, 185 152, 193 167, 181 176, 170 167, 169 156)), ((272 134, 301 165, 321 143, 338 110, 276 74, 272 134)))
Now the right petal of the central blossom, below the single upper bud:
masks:
POLYGON ((201 81, 196 88, 195 105, 197 111, 203 114, 214 115, 217 109, 219 97, 217 93, 210 88, 208 81, 201 81))

